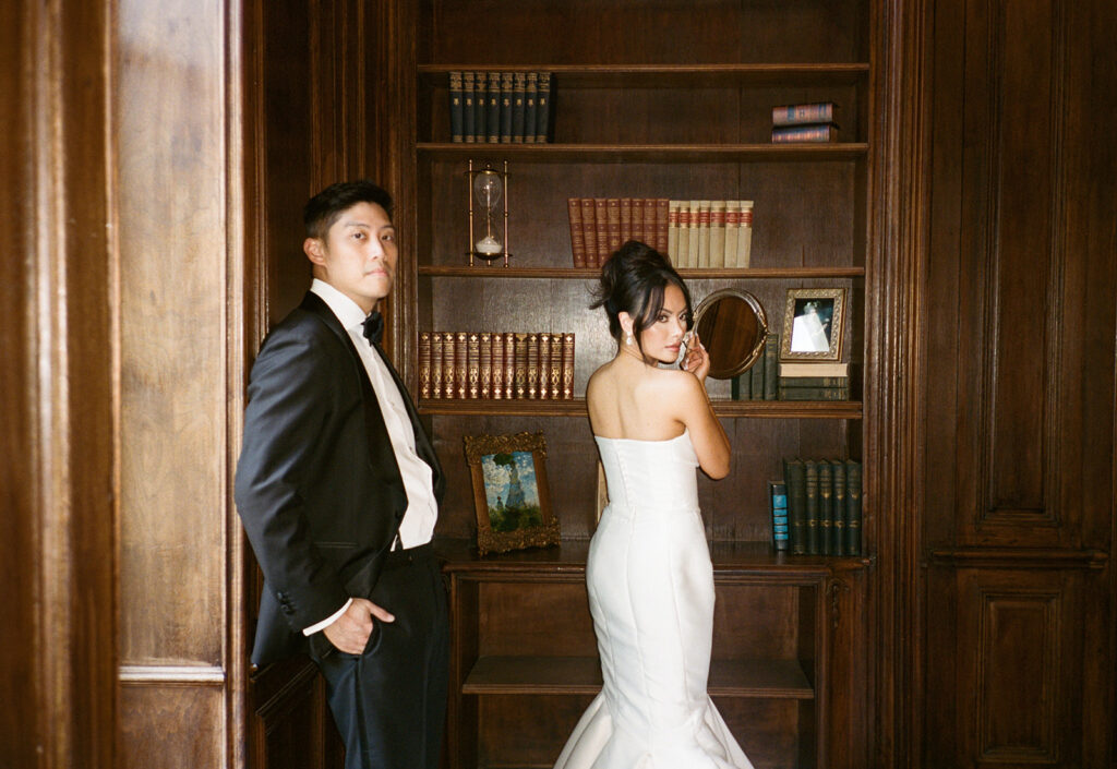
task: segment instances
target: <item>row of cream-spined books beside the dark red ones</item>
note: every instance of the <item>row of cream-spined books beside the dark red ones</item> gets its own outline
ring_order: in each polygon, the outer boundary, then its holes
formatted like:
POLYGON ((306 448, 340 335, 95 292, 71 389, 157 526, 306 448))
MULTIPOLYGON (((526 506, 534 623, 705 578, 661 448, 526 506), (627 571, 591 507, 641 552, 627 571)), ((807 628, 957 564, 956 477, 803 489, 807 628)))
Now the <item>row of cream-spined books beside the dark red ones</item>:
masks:
POLYGON ((752 200, 671 200, 667 222, 667 250, 676 267, 748 266, 752 200))

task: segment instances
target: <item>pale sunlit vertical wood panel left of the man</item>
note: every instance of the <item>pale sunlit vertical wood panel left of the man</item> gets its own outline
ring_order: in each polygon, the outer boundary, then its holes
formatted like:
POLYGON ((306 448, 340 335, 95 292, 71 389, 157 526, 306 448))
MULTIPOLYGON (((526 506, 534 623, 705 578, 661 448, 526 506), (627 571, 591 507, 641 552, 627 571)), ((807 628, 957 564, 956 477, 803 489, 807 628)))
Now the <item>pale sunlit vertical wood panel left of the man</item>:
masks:
POLYGON ((226 691, 230 12, 112 3, 121 732, 137 767, 225 762, 239 728, 226 691))

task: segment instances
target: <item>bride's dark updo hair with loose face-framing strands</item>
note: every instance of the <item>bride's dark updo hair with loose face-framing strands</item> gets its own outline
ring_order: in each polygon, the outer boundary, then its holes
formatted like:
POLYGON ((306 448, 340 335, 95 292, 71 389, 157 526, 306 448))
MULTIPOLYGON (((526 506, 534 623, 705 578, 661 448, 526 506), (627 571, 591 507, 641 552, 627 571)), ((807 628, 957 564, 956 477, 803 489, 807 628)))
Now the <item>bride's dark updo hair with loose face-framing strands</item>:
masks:
POLYGON ((632 336, 637 346, 640 334, 656 322, 663 308, 663 289, 668 284, 679 287, 687 302, 687 327, 690 326, 690 292, 670 260, 639 240, 629 240, 609 257, 601 268, 601 282, 594 291, 593 308, 604 307, 609 316, 609 333, 618 342, 624 333, 620 313, 632 316, 632 336))

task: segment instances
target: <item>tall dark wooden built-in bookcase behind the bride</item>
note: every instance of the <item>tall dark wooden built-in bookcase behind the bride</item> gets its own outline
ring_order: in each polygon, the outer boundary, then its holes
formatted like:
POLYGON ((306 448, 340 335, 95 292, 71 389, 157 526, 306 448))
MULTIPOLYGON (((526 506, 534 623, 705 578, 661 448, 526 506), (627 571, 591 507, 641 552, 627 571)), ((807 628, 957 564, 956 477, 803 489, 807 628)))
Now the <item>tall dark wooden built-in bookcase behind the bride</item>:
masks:
MULTIPOLYGON (((470 30, 480 30, 469 3, 423 0, 417 12, 416 120, 405 152, 413 164, 402 169, 416 180, 409 209, 417 213, 404 232, 410 254, 401 256, 418 306, 414 329, 551 330, 576 340, 573 400, 419 402, 450 497, 439 532, 454 616, 451 769, 551 766, 601 686, 584 587, 596 455, 583 396, 614 348, 600 311, 589 310, 599 269, 572 266, 567 198, 754 200, 752 266, 681 270, 695 302, 745 288, 780 331, 789 288, 846 287, 846 360, 869 363, 875 6, 745 0, 703 13, 687 0, 653 10, 623 0, 591 7, 595 23, 626 30, 623 39, 584 25, 580 35, 557 34, 564 21, 548 9, 500 0, 485 15, 493 44, 478 54, 467 44, 470 30), (451 72, 551 73, 550 142, 451 141, 451 72), (811 101, 841 104, 843 141, 771 143, 771 107, 811 101), (508 267, 466 264, 469 160, 508 162, 508 267), (522 430, 546 436, 566 539, 558 548, 478 558, 468 540, 476 522, 462 438, 522 430)), ((858 558, 773 552, 764 500, 784 457, 861 459, 865 408, 861 400, 733 401, 728 391, 726 382, 712 383, 715 412, 741 458, 722 485, 699 480, 718 606, 710 693, 758 767, 856 769, 855 753, 841 746, 867 728, 857 651, 867 644, 871 543, 858 558)))

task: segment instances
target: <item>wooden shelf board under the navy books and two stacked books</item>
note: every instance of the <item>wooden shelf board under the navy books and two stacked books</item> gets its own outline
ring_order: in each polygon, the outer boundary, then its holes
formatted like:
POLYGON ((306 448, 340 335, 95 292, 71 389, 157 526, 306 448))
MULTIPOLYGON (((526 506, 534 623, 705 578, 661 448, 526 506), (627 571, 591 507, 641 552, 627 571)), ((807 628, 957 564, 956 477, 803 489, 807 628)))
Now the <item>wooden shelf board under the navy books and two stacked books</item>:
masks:
POLYGON ((830 144, 467 144, 419 142, 430 160, 474 159, 536 163, 724 163, 850 162, 869 153, 868 143, 830 144))

